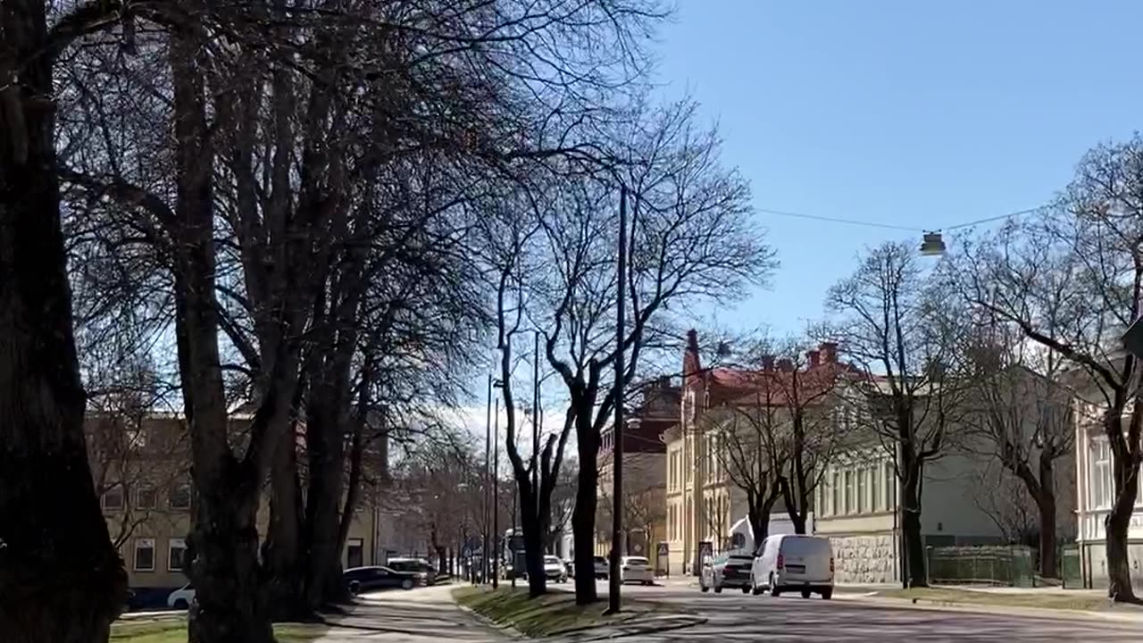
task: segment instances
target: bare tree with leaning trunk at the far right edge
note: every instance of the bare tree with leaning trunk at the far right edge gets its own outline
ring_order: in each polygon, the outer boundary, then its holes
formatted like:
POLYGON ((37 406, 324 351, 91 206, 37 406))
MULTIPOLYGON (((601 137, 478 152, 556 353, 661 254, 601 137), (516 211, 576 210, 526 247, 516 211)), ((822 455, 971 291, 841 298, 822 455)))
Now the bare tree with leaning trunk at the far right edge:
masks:
POLYGON ((1135 602, 1127 532, 1143 460, 1138 360, 1120 335, 1143 303, 1143 140, 1098 145, 1053 206, 966 244, 968 301, 1073 367, 1076 395, 1101 408, 1114 500, 1104 521, 1109 596, 1135 602))

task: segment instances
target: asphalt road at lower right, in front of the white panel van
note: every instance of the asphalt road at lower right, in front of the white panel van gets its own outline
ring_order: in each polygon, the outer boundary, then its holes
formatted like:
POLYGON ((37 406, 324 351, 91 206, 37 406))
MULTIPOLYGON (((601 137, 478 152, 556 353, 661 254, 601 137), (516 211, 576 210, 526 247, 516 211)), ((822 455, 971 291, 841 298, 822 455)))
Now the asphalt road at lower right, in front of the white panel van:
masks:
MULTIPOLYGON (((624 592, 631 597, 678 604, 709 619, 704 625, 676 632, 623 637, 622 641, 625 643, 1143 641, 1143 625, 1094 619, 887 608, 837 596, 832 601, 823 601, 818 596, 802 598, 800 594, 783 595, 778 598, 732 590, 722 594, 702 594, 697 587, 679 585, 628 586, 624 587, 624 592)), ((606 589, 601 593, 606 593, 606 589)))

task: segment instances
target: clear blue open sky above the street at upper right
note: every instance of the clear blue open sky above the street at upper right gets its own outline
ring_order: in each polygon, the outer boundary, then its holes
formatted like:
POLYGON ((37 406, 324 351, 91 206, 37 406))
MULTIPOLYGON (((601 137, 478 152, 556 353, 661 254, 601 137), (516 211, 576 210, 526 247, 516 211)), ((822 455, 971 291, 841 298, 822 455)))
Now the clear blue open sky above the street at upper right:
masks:
MULTIPOLYGON (((759 208, 936 229, 1037 206, 1140 127, 1143 2, 678 0, 665 96, 718 121, 759 208)), ((909 237, 759 214, 782 268, 712 318, 798 332, 864 247, 909 237)))

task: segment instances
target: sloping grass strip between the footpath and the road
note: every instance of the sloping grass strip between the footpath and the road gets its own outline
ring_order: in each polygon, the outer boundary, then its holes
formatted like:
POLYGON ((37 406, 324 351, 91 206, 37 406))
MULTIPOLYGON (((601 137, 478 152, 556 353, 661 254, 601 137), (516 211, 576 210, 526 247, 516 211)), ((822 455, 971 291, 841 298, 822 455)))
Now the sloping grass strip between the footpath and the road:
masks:
POLYGON ((485 587, 458 587, 453 590, 453 597, 493 622, 511 626, 531 637, 630 624, 647 614, 664 613, 664 609, 656 604, 624 600, 622 613, 605 616, 606 603, 576 605, 575 595, 569 592, 552 592, 529 598, 526 588, 502 587, 494 592, 485 587))

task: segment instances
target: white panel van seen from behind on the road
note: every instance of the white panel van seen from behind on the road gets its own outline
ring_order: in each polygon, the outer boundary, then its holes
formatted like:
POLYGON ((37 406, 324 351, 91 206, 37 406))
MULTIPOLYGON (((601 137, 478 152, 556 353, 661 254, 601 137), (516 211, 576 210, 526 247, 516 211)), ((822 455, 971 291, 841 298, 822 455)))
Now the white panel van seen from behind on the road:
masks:
POLYGON ((801 592, 804 598, 821 594, 833 596, 833 547, 829 538, 817 535, 772 535, 762 541, 750 582, 754 594, 769 590, 770 596, 783 592, 801 592))

